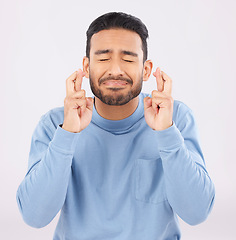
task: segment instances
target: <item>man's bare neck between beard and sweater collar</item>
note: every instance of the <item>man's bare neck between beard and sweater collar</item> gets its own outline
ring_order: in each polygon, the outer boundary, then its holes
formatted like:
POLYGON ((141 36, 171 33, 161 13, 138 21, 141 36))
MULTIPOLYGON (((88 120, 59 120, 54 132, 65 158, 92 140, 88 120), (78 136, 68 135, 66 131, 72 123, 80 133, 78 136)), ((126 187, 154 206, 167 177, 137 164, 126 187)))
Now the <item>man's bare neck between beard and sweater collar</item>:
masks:
POLYGON ((121 120, 129 117, 134 113, 139 103, 139 96, 133 98, 128 103, 122 106, 112 106, 103 103, 96 96, 95 99, 95 108, 100 116, 108 120, 121 120))

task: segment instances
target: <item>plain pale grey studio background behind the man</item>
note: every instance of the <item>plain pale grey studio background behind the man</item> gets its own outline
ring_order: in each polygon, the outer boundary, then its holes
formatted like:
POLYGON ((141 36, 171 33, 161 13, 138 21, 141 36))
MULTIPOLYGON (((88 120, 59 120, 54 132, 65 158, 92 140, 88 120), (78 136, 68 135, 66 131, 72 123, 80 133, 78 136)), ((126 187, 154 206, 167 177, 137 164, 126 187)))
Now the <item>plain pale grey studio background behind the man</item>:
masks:
MULTIPOLYGON (((216 202, 204 223, 189 226, 181 221, 182 239, 235 239, 236 2, 1 0, 2 239, 52 239, 58 216, 42 229, 27 226, 17 208, 16 190, 27 171, 40 116, 63 105, 65 80, 82 67, 85 32, 92 20, 109 11, 142 19, 149 29, 154 68, 161 67, 172 78, 174 99, 196 116, 216 202)), ((92 95, 86 78, 82 88, 92 95)), ((152 76, 143 92, 154 89, 152 76)))

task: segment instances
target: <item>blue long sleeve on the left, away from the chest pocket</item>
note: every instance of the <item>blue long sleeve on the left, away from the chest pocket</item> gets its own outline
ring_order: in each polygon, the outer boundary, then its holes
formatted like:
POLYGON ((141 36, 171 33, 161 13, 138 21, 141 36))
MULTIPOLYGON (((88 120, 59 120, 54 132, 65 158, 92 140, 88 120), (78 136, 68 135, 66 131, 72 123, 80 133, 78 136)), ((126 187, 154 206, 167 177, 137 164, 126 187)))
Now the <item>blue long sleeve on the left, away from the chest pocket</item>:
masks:
POLYGON ((37 228, 46 226, 65 201, 78 136, 45 122, 33 133, 28 172, 16 196, 24 221, 37 228))

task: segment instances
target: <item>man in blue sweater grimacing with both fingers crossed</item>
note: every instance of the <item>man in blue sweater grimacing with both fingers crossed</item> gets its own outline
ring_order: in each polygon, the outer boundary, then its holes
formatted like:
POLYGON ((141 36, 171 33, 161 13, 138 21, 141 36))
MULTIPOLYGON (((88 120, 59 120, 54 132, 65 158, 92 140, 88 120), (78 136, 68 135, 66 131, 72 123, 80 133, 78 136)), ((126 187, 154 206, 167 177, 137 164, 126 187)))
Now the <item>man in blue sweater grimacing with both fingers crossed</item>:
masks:
POLYGON ((36 228, 61 210, 55 240, 180 239, 177 215, 195 225, 212 209, 214 185, 191 109, 173 100, 160 68, 157 89, 141 93, 153 68, 147 37, 131 15, 94 20, 83 70, 66 80, 64 107, 42 116, 33 133, 17 202, 36 228))

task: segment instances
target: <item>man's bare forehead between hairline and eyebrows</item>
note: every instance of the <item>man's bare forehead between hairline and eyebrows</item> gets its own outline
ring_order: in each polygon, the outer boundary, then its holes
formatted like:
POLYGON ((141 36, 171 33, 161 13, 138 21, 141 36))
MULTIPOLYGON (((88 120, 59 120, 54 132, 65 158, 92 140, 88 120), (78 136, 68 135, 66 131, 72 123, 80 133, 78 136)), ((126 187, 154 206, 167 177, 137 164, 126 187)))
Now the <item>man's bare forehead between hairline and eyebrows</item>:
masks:
POLYGON ((95 51, 102 49, 127 50, 141 54, 142 40, 136 32, 130 30, 102 30, 92 36, 90 52, 94 54, 95 51))

